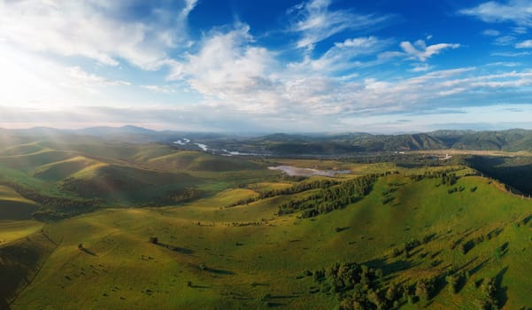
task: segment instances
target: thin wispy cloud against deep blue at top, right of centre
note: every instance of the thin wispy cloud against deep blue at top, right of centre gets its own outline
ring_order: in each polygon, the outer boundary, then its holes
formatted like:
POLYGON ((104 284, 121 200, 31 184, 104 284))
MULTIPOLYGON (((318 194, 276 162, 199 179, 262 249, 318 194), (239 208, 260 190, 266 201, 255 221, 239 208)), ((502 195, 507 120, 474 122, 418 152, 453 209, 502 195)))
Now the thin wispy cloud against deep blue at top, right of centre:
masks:
POLYGON ((389 19, 374 14, 361 15, 350 11, 330 11, 331 0, 311 0, 289 10, 296 15, 290 30, 301 34, 297 48, 313 49, 314 44, 345 30, 363 30, 375 27, 389 19))

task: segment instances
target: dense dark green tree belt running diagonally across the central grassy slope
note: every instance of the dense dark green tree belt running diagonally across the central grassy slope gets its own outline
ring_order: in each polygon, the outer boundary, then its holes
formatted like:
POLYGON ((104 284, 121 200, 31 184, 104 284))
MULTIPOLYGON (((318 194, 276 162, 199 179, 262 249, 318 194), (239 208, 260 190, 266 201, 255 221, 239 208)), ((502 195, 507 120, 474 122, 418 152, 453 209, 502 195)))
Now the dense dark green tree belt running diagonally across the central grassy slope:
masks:
POLYGON ((342 209, 369 194, 379 175, 366 174, 322 189, 306 198, 290 200, 288 203, 279 206, 277 214, 282 215, 305 210, 300 217, 310 218, 336 209, 342 209))

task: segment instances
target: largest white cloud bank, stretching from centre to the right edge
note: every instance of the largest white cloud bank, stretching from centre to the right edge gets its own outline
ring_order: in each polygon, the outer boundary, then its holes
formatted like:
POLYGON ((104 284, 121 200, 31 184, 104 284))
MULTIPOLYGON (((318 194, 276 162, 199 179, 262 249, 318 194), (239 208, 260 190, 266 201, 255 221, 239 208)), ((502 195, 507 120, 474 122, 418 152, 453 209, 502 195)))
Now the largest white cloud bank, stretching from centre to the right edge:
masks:
POLYGON ((258 46, 248 25, 236 24, 232 30, 205 35, 196 53, 173 63, 168 79, 189 83, 212 111, 320 121, 353 113, 408 111, 459 94, 528 85, 528 73, 476 75, 471 67, 422 74, 433 69, 425 63, 428 58, 459 48, 457 43, 405 42, 404 51, 378 54, 387 45, 388 40, 375 36, 349 38, 316 58, 303 51, 301 61, 283 66, 274 51, 258 46), (412 72, 420 75, 360 77, 356 69, 371 66, 367 58, 374 55, 378 64, 397 57, 419 60, 412 72))

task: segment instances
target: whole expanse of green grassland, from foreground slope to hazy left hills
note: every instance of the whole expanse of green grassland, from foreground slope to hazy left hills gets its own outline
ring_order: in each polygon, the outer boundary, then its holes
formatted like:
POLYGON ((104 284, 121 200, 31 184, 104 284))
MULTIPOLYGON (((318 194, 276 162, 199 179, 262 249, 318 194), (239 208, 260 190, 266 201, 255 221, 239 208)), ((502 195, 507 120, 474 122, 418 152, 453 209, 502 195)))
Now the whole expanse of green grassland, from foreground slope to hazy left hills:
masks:
POLYGON ((368 267, 370 309, 477 309, 490 298, 502 309, 532 305, 532 200, 470 167, 234 159, 158 144, 106 153, 47 145, 67 154, 54 160, 38 156, 41 146, 0 155, 0 206, 17 215, 0 221, 0 275, 10 279, 2 308, 348 308, 359 286, 335 282, 336 262, 368 267), (16 168, 13 156, 33 166, 16 168), (352 173, 298 179, 267 170, 275 164, 352 173), (85 190, 65 189, 69 180, 85 190), (357 180, 371 183, 337 194, 357 180), (42 203, 24 198, 28 189, 104 201, 35 221, 21 205, 33 213, 42 203), (172 191, 174 201, 153 203, 172 191), (334 207, 320 208, 330 199, 334 207), (421 280, 431 281, 427 298, 421 280), (395 305, 384 298, 391 285, 402 290, 395 305))

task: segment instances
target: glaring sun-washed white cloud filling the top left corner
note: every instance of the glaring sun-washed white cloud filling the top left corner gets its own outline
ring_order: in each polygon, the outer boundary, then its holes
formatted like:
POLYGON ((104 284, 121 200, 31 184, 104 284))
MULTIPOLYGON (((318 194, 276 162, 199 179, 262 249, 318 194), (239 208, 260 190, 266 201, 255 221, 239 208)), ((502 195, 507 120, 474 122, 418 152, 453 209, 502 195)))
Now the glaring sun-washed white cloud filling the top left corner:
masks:
POLYGON ((165 64, 165 50, 184 37, 182 19, 195 4, 188 0, 181 12, 175 12, 181 14, 177 19, 154 10, 150 22, 141 22, 120 19, 134 2, 2 1, 0 37, 29 50, 81 56, 108 66, 125 59, 156 70, 165 64))

